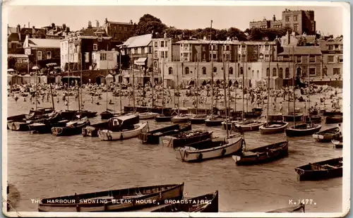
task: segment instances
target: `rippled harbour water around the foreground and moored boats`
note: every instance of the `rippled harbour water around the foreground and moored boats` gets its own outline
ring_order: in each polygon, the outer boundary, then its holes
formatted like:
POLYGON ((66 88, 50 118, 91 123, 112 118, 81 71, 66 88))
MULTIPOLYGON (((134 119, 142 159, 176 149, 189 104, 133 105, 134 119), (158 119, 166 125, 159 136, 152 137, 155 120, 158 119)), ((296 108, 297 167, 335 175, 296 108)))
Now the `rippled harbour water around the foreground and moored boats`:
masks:
MULTIPOLYGON (((28 112, 33 107, 22 101, 16 104, 8 99, 8 116, 28 112)), ((85 101, 89 102, 89 97, 85 97, 85 101)), ((61 105, 59 109, 65 107, 61 105)), ((103 111, 105 105, 92 105, 89 109, 103 111)), ((97 116, 91 123, 99 120, 97 116)), ((149 121, 151 129, 165 125, 168 123, 149 121)), ((322 129, 331 126, 335 125, 323 124, 322 129)), ((206 128, 195 125, 193 129, 206 128)), ((222 128, 212 130, 215 136, 225 135, 222 128)), ((265 212, 288 207, 291 199, 316 202, 316 205, 306 205, 308 212, 342 211, 342 178, 297 181, 294 167, 342 156, 342 150, 333 148, 331 143, 317 143, 311 136, 289 138, 289 156, 284 159, 269 164, 236 166, 232 157, 202 163, 180 162, 170 147, 141 145, 137 138, 103 142, 82 135, 7 133, 8 183, 16 186, 20 193, 16 204, 18 211, 37 211, 37 204, 32 204, 30 199, 183 181, 186 197, 219 190, 220 212, 265 212)), ((246 133, 245 139, 246 146, 252 148, 285 140, 285 134, 253 132, 246 133)))

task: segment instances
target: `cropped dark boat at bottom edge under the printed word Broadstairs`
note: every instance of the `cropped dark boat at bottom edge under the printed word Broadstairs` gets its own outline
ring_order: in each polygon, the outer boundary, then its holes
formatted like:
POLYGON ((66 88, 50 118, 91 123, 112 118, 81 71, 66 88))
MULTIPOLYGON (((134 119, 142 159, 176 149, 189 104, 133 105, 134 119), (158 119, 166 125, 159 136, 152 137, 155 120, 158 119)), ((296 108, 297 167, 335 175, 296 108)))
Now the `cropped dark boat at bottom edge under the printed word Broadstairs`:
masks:
POLYGON ((151 212, 218 212, 218 191, 207 195, 183 200, 169 200, 175 202, 164 205, 151 212))

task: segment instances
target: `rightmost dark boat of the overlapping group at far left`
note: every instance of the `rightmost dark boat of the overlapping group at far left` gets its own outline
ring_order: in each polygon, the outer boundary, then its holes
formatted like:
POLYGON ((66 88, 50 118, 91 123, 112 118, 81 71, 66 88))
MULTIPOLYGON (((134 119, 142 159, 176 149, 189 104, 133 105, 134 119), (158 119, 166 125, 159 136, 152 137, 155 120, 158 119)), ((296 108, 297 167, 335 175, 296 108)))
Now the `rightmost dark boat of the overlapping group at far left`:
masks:
POLYGON ((70 121, 65 127, 53 127, 52 134, 56 136, 78 135, 82 133, 82 128, 89 125, 90 121, 85 117, 79 121, 70 121))

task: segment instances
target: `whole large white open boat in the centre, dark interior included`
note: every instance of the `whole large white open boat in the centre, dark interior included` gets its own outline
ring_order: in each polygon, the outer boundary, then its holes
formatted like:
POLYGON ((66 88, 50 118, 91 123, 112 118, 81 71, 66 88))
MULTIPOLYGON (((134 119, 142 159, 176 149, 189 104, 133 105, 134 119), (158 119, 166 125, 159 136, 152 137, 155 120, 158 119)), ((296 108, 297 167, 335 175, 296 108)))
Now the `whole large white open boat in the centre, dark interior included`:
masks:
POLYGON ((231 135, 228 138, 215 138, 199 143, 186 145, 176 149, 177 159, 183 162, 201 162, 204 159, 213 159, 232 155, 241 150, 243 137, 241 134, 231 135), (199 147, 196 148, 196 147, 199 147), (205 147, 202 149, 201 147, 205 147))

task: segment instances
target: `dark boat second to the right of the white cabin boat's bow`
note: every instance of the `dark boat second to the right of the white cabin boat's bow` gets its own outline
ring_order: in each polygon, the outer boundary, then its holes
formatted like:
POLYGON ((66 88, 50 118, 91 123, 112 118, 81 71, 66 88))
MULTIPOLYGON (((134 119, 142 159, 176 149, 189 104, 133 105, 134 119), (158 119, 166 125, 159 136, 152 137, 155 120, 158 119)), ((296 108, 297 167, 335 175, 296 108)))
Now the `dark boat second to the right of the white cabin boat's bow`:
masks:
POLYGON ((157 128, 146 133, 140 133, 138 139, 145 144, 158 144, 160 142, 160 137, 164 135, 178 135, 184 131, 191 131, 190 124, 174 124, 172 126, 166 126, 162 128, 157 128))

